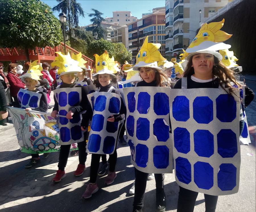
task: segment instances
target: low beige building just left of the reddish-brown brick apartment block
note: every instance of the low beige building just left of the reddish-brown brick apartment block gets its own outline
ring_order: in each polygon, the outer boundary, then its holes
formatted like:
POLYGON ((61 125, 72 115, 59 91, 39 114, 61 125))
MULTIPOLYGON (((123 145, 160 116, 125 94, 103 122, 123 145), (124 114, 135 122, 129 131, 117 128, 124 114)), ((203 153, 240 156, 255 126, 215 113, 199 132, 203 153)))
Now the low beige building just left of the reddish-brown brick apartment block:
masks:
POLYGON ((128 26, 120 26, 115 30, 110 31, 110 37, 112 43, 123 43, 127 51, 129 51, 129 42, 128 42, 128 26))

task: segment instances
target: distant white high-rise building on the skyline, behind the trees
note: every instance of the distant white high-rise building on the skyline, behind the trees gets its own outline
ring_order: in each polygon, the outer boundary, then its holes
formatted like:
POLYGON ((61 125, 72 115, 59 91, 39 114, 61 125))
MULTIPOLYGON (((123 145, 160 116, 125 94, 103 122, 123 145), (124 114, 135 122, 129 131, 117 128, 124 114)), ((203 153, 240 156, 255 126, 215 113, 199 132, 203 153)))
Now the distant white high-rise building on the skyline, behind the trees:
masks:
POLYGON ((117 23, 119 26, 130 24, 137 20, 137 17, 132 16, 130 11, 114 11, 113 17, 106 17, 105 22, 117 23))

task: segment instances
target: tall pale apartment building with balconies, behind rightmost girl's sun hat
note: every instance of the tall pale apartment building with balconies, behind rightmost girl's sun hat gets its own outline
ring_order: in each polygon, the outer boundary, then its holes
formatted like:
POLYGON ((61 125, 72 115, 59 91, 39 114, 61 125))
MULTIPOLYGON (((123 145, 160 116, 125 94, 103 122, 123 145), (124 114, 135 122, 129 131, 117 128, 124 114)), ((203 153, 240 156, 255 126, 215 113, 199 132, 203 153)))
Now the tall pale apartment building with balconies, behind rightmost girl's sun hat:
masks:
POLYGON ((177 56, 197 34, 200 23, 214 15, 232 0, 166 0, 166 49, 168 56, 177 56))

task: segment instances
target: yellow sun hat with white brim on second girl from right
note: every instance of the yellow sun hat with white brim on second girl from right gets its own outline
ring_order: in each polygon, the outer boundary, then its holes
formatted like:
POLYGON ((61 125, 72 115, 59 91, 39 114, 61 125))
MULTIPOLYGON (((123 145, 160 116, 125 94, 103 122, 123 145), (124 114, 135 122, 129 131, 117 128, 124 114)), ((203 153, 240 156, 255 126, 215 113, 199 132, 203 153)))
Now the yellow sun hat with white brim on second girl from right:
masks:
POLYGON ((136 56, 136 64, 133 66, 133 70, 138 70, 138 68, 141 67, 162 69, 157 66, 157 62, 166 60, 166 58, 164 58, 158 51, 160 47, 160 43, 148 43, 147 36, 136 56))

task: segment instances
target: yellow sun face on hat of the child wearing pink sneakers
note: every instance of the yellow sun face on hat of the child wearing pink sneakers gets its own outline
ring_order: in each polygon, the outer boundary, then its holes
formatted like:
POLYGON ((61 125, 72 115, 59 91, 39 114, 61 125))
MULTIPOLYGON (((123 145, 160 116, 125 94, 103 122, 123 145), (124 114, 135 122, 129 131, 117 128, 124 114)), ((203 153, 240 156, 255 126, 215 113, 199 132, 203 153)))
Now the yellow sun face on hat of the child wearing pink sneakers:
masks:
POLYGON ((117 73, 118 63, 114 60, 114 57, 110 58, 108 52, 105 52, 102 55, 94 54, 95 62, 96 62, 96 72, 99 72, 102 69, 108 69, 113 72, 113 74, 117 73))

